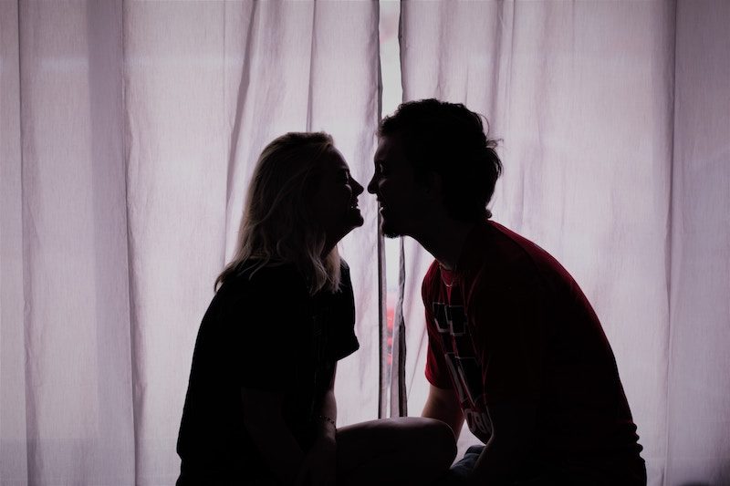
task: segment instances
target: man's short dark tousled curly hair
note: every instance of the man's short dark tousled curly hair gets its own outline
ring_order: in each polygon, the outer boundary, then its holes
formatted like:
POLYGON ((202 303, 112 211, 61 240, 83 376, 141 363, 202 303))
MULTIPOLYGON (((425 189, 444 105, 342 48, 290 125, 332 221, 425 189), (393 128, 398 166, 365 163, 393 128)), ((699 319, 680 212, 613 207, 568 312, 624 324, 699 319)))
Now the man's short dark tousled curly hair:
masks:
POLYGON ((482 221, 492 216, 486 204, 495 192, 502 162, 495 152, 496 140, 487 137, 474 111, 438 99, 409 101, 381 121, 378 135, 401 138, 417 180, 423 181, 429 172, 441 176, 443 204, 451 217, 482 221))

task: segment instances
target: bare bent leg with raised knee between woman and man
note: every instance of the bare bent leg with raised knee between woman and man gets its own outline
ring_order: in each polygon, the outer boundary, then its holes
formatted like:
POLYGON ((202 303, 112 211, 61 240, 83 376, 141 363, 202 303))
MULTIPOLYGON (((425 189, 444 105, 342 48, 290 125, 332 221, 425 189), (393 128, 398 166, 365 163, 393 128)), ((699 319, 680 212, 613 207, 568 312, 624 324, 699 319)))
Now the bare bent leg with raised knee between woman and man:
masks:
POLYGON ((429 484, 456 455, 454 432, 439 420, 371 420, 337 431, 338 483, 429 484))

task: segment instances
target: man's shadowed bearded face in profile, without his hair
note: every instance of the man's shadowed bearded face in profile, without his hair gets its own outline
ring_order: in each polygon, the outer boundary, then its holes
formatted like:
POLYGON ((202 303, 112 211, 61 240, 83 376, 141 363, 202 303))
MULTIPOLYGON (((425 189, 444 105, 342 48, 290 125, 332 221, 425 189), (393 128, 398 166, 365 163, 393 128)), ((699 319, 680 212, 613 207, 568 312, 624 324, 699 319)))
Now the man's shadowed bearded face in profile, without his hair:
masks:
POLYGON ((415 181, 400 138, 381 137, 374 161, 368 192, 378 196, 382 233, 389 238, 413 236, 422 219, 422 187, 415 181))

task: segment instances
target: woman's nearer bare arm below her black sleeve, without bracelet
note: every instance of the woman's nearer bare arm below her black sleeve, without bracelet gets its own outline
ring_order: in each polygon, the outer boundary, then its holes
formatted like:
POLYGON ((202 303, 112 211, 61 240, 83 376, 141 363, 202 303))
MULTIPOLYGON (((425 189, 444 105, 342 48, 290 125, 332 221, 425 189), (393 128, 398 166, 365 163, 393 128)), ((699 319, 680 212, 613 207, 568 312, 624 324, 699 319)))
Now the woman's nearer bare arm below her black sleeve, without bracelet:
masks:
POLYGON ((244 427, 261 451, 268 470, 282 484, 297 484, 304 452, 284 423, 283 394, 241 388, 241 399, 244 427))

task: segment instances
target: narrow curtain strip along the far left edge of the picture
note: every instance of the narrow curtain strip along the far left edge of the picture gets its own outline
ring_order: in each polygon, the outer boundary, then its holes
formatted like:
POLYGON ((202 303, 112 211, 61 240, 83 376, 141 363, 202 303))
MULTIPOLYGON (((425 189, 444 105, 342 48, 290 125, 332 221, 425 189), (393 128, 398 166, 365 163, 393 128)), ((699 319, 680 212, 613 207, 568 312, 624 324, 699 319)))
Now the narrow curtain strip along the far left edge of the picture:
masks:
POLYGON ((20 148, 20 35, 16 2, 0 2, 0 482, 27 478, 20 148))

